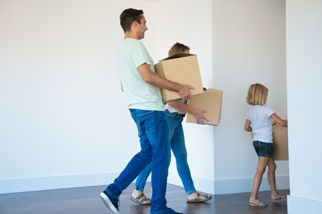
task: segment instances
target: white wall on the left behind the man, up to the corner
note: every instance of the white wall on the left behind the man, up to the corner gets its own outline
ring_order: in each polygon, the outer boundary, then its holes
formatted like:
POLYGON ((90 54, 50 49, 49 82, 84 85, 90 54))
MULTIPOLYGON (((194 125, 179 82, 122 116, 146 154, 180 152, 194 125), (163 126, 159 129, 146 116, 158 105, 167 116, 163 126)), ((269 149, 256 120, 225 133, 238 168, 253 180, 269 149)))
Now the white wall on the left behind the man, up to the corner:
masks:
POLYGON ((108 184, 139 150, 114 55, 122 10, 154 5, 1 1, 0 192, 108 184))

